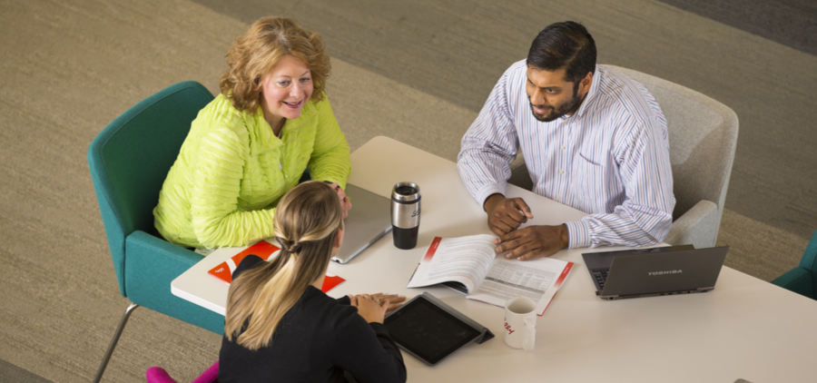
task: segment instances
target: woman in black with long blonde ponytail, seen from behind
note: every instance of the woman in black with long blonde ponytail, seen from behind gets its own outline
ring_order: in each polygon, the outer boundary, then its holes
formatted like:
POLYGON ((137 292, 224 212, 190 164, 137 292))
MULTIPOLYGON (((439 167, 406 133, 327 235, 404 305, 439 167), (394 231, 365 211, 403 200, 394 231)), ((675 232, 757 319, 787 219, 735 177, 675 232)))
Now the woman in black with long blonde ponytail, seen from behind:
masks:
POLYGON ((343 243, 343 209, 324 182, 289 191, 275 214, 281 253, 248 256, 233 273, 219 357, 220 382, 405 382, 383 318, 394 295, 334 300, 320 291, 343 243))

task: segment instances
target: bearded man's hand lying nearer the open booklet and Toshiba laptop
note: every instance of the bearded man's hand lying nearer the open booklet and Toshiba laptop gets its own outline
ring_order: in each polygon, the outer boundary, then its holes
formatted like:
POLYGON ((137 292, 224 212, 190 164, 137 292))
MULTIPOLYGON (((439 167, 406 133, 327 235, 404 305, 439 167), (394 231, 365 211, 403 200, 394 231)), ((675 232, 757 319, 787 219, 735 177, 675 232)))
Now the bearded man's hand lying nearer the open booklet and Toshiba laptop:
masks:
POLYGON ((565 249, 570 244, 567 225, 528 226, 525 229, 511 231, 494 240, 498 253, 507 251, 508 260, 533 260, 549 257, 556 251, 565 249))

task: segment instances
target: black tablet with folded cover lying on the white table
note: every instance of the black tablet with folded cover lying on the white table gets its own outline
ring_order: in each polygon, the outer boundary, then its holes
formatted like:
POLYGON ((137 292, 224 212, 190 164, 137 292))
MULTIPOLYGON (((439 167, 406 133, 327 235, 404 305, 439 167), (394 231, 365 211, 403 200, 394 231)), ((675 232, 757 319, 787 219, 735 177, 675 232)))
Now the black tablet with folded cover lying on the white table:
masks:
POLYGON ((431 366, 474 340, 482 343, 494 337, 428 292, 391 312, 383 323, 401 349, 431 366))

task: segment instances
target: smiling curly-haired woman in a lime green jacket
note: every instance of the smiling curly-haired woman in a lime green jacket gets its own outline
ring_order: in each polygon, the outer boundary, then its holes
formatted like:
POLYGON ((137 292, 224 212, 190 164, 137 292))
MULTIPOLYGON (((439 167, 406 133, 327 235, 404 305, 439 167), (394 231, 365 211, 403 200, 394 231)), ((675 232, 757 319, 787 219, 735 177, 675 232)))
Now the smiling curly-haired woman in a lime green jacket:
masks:
POLYGON ((264 17, 227 54, 221 93, 192 122, 153 210, 172 243, 213 249, 271 237, 275 206, 309 167, 334 182, 344 213, 349 143, 324 93, 320 35, 264 17))

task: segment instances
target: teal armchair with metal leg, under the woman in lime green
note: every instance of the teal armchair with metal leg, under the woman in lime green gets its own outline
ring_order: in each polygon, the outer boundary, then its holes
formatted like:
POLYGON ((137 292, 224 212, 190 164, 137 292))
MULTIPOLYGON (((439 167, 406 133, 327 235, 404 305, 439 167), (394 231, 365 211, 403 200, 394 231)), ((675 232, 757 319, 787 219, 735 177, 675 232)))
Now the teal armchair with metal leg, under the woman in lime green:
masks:
POLYGON ((202 256, 164 241, 153 227, 153 208, 167 172, 179 155, 192 120, 212 99, 212 93, 200 83, 172 85, 113 120, 88 149, 119 292, 132 302, 113 334, 94 382, 102 378, 127 319, 139 306, 217 334, 224 331, 223 316, 171 293, 171 281, 202 256))

